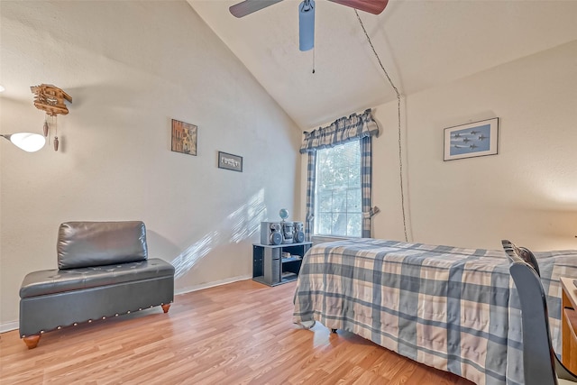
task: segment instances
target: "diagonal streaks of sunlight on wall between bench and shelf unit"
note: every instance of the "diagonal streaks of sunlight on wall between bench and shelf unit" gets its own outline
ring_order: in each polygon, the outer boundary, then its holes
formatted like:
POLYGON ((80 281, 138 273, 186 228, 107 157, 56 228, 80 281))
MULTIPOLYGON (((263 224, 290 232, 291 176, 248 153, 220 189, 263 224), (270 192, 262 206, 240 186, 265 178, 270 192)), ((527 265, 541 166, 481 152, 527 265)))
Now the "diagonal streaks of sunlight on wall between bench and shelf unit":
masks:
POLYGON ((265 220, 266 215, 264 189, 261 188, 247 203, 227 215, 214 231, 203 235, 171 262, 175 269, 175 278, 185 275, 216 246, 224 243, 240 243, 250 238, 259 231, 261 221, 265 220))

